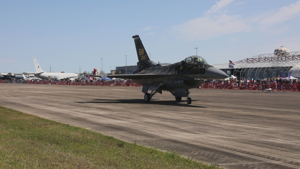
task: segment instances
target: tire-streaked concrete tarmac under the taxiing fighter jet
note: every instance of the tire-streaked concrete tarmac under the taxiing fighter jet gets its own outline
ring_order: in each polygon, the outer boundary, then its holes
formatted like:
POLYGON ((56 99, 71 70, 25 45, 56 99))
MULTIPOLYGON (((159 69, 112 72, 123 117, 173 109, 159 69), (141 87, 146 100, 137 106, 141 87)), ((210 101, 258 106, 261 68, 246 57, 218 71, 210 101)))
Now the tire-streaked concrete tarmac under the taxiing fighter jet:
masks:
POLYGON ((225 168, 300 169, 298 92, 0 84, 0 105, 225 168))

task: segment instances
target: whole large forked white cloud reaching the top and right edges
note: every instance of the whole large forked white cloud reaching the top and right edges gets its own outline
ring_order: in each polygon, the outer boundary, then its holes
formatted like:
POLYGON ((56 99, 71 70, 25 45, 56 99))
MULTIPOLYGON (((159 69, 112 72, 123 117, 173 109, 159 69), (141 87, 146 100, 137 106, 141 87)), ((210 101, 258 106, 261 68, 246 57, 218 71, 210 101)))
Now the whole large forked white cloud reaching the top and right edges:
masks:
POLYGON ((205 40, 236 32, 264 31, 268 34, 284 33, 289 30, 289 26, 280 25, 287 20, 300 16, 300 1, 275 9, 265 13, 243 17, 241 15, 226 14, 229 5, 240 5, 234 0, 220 0, 216 2, 202 17, 190 20, 177 26, 172 26, 172 32, 178 34, 180 38, 189 41, 205 40), (278 26, 274 27, 273 25, 278 26), (272 27, 271 27, 272 26, 272 27))

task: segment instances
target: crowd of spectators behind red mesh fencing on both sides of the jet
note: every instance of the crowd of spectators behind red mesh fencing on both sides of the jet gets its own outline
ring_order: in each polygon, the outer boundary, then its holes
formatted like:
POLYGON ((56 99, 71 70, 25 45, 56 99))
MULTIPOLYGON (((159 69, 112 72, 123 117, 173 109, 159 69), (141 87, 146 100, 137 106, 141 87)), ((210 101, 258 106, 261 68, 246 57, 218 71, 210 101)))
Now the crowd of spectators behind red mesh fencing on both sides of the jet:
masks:
MULTIPOLYGON (((115 80, 0 80, 0 83, 27 83, 27 84, 60 84, 60 85, 85 85, 85 86, 140 86, 133 81, 115 80)), ((253 79, 253 78, 232 78, 230 80, 206 80, 199 88, 209 89, 238 89, 238 90, 265 90, 274 91, 300 91, 298 79, 253 79)))

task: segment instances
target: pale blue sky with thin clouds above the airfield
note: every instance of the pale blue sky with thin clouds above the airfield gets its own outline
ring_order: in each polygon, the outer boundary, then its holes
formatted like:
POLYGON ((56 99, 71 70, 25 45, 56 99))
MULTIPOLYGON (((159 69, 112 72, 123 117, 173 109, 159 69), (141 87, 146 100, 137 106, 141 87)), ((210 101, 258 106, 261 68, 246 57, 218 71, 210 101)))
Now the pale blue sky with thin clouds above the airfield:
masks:
POLYGON ((300 51, 300 1, 0 1, 0 72, 105 73, 136 65, 133 35, 151 60, 197 54, 209 64, 300 51), (101 58, 102 65, 101 66, 101 58))

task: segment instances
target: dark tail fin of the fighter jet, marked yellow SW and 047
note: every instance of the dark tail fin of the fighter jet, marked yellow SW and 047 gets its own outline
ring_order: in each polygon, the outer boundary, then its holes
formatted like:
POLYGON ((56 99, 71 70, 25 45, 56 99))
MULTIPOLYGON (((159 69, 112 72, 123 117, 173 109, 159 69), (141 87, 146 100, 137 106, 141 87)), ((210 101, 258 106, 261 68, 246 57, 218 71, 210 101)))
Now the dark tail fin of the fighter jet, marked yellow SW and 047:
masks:
POLYGON ((158 63, 149 59, 148 54, 144 48, 144 45, 139 35, 132 36, 135 42, 136 53, 138 54, 138 68, 148 68, 152 66, 159 66, 158 63))

